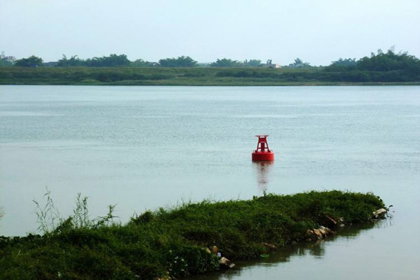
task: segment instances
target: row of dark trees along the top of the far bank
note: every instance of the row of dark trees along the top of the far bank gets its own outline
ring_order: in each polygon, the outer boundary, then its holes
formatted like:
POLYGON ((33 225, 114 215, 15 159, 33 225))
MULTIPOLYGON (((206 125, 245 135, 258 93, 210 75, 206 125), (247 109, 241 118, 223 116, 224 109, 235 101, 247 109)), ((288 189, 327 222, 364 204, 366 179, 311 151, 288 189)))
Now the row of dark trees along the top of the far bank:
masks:
MULTIPOLYGON (((62 59, 57 62, 44 63, 41 57, 32 55, 31 57, 18 59, 15 62, 10 62, 4 57, 0 59, 0 66, 20 66, 20 67, 36 67, 36 66, 57 66, 57 67, 74 67, 74 66, 88 66, 88 67, 114 67, 114 66, 135 66, 135 67, 197 67, 197 66, 214 66, 214 67, 260 67, 260 66, 276 66, 272 64, 272 60, 268 59, 266 63, 262 63, 260 59, 246 59, 243 62, 232 60, 228 58, 217 59, 216 62, 208 64, 199 64, 197 61, 188 56, 173 57, 160 59, 159 62, 148 62, 144 59, 137 59, 131 62, 127 55, 112 54, 104 57, 93 57, 88 59, 80 59, 77 55, 70 58, 63 55, 62 59)), ((407 52, 395 53, 392 49, 387 52, 382 50, 377 51, 377 55, 371 52, 370 57, 363 57, 356 61, 355 58, 339 58, 332 62, 328 67, 330 71, 335 70, 373 70, 373 71, 391 71, 395 69, 402 69, 404 67, 416 68, 419 66, 419 59, 407 52)), ((283 67, 290 68, 312 68, 308 62, 303 62, 302 59, 296 58, 293 63, 283 67)))

